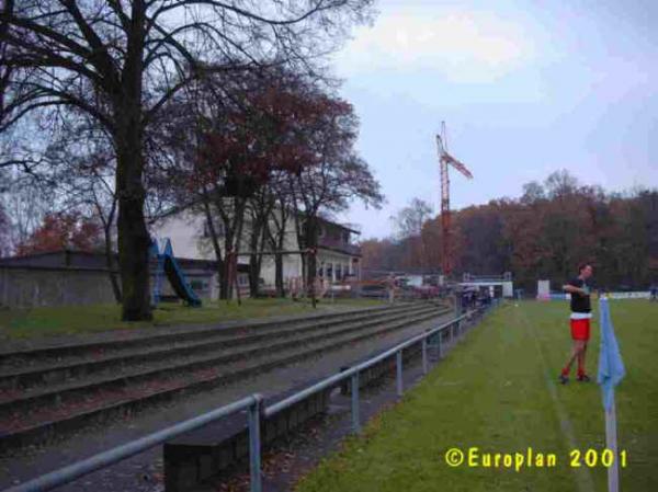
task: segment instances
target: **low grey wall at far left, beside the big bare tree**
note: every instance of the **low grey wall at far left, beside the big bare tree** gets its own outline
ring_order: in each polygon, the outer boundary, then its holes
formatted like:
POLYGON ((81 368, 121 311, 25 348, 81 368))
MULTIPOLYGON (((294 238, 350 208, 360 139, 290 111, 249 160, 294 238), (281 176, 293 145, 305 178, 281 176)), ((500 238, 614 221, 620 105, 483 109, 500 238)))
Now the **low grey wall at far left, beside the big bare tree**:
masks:
POLYGON ((114 302, 106 271, 0 266, 0 306, 26 308, 114 302))

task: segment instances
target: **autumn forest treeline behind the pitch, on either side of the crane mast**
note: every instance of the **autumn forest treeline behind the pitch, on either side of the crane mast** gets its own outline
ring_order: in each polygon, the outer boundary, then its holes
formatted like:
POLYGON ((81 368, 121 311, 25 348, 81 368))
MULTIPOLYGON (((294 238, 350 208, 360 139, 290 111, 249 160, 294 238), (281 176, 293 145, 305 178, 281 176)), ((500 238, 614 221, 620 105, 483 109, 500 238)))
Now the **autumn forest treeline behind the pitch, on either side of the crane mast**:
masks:
MULTIPOLYGON (((441 217, 413 199, 394 217, 397 236, 363 241, 366 271, 434 270, 441 265, 441 217)), ((592 262, 603 288, 658 282, 658 190, 609 193, 567 171, 523 186, 520 198, 453 211, 454 275, 512 272, 515 287, 552 288, 592 262)))

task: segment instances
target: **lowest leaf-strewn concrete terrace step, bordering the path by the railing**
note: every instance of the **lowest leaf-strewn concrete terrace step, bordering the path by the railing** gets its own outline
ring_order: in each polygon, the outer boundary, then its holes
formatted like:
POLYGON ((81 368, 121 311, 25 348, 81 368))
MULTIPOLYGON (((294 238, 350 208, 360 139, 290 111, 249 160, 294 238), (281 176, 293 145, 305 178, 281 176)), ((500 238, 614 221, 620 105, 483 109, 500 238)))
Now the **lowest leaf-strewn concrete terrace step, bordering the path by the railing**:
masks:
MULTIPOLYGON (((181 394, 198 392, 230 381, 239 380, 258 373, 270 370, 277 366, 322 354, 339 348, 345 344, 366 340, 402 329, 413 323, 438 317, 445 311, 439 311, 430 306, 417 309, 415 313, 401 313, 384 322, 373 322, 366 327, 352 327, 334 330, 324 335, 307 336, 291 344, 282 342, 276 345, 263 346, 248 357, 224 365, 206 361, 206 365, 195 365, 182 370, 174 368, 162 371, 150 371, 148 376, 118 378, 115 384, 97 386, 82 390, 56 390, 36 399, 27 398, 19 404, 18 413, 3 412, 2 428, 0 428, 0 448, 9 449, 33 442, 39 442, 49 434, 76 430, 86 422, 99 421, 126 412, 171 400, 181 394), (121 382, 123 381, 123 382, 121 382), (41 401, 39 403, 37 403, 41 401), (30 404, 24 405, 25 402, 30 404), (32 410, 27 412, 27 410, 32 410), (13 413, 13 414, 10 414, 13 413)), ((9 403, 9 402, 8 402, 9 403)), ((5 407, 11 410, 11 403, 5 407)))

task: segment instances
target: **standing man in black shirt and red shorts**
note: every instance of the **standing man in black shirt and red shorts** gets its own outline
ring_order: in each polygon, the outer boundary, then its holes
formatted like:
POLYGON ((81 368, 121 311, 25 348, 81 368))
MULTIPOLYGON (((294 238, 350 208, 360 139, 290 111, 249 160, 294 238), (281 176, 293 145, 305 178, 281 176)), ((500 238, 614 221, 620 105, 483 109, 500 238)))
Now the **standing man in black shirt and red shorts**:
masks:
POLYGON ((571 295, 571 339, 574 348, 569 362, 559 375, 559 381, 566 385, 569 381, 569 373, 574 361, 578 361, 578 380, 588 382, 589 376, 585 370, 585 354, 587 353, 587 343, 590 339, 590 320, 592 309, 590 305, 590 285, 588 279, 592 276, 592 265, 583 263, 578 266, 578 276, 565 286, 563 289, 571 295))

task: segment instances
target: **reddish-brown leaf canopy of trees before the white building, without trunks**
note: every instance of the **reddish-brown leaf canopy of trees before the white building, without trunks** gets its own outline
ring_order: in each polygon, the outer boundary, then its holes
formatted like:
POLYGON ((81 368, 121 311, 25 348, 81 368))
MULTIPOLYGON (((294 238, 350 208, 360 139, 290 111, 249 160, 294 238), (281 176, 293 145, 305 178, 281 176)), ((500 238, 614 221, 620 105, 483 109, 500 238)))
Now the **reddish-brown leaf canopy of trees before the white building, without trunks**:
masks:
POLYGON ((286 80, 251 83, 240 93, 240 104, 224 106, 206 122, 209 129, 200 138, 192 190, 224 183, 226 195, 248 196, 274 171, 298 175, 317 165, 318 149, 336 135, 354 137, 352 131, 336 130, 341 118, 353 121, 347 102, 286 80))

